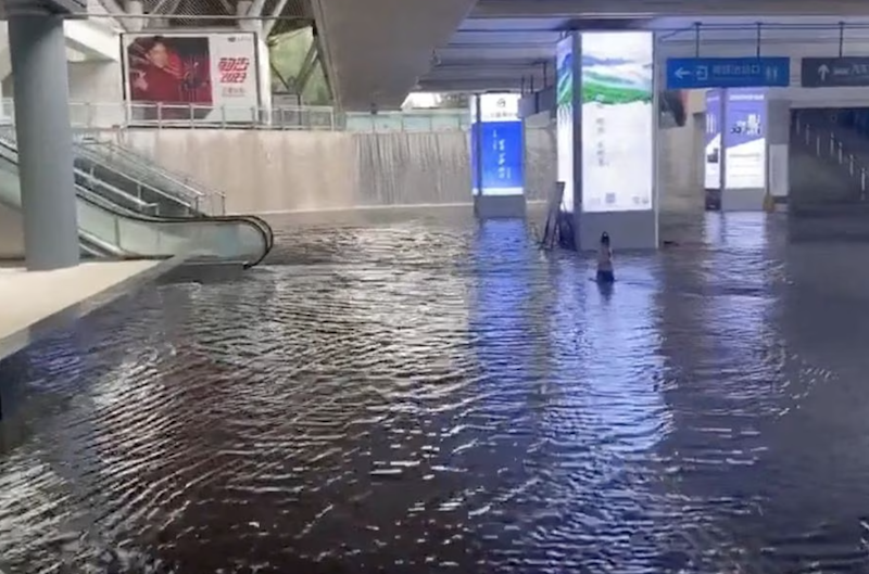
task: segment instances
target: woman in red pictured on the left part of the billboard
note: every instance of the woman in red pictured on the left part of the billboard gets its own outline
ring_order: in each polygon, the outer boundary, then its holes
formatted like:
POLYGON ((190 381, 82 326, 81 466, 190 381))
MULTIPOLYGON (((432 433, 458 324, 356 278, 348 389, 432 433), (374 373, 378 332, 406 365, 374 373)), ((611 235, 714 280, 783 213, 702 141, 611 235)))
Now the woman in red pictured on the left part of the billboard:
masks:
POLYGON ((163 104, 146 110, 143 119, 194 119, 210 112, 209 40, 174 39, 179 44, 184 43, 179 48, 187 48, 184 52, 189 53, 179 55, 161 36, 139 38, 129 47, 130 99, 134 102, 163 104), (191 114, 190 109, 181 104, 206 105, 201 110, 204 114, 191 114))

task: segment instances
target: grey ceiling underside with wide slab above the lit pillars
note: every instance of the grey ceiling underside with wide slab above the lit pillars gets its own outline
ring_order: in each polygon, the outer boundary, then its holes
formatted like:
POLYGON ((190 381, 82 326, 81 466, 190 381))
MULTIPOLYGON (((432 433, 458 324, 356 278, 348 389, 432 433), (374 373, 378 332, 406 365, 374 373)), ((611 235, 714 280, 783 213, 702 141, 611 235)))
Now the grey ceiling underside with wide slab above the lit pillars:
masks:
POLYGON ((837 38, 834 28, 841 20, 869 28, 869 2, 861 0, 313 2, 329 9, 327 17, 316 8, 314 15, 329 52, 327 71, 339 103, 351 110, 370 110, 371 104, 398 107, 408 90, 543 87, 553 80, 555 43, 568 30, 656 29, 669 35, 665 41, 694 42, 691 28, 702 22, 704 42, 754 42, 758 21, 765 23, 764 41, 817 40, 819 34, 837 38), (432 7, 441 4, 449 7, 436 14, 432 7), (816 24, 807 27, 795 15, 813 16, 816 24))

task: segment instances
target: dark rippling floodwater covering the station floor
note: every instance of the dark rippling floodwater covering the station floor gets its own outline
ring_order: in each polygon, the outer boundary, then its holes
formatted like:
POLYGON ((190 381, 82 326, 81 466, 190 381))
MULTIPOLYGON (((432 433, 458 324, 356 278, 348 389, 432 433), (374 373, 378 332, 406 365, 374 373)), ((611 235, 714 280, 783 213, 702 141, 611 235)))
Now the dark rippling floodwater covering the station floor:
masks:
POLYGON ((869 571, 869 246, 278 225, 0 365, 0 571, 869 571))

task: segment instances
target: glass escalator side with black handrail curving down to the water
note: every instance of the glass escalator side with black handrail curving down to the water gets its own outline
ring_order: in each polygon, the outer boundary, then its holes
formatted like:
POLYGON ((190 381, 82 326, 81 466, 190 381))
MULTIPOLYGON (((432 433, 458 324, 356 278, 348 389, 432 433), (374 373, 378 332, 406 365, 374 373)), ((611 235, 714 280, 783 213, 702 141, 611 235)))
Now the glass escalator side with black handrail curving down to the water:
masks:
MULTIPOLYGON (((76 207, 83 254, 112 258, 168 258, 231 263, 245 268, 261 263, 274 245, 267 222, 254 216, 148 215, 128 205, 136 197, 76 173, 76 207), (110 199, 111 197, 111 199, 110 199)), ((21 211, 17 153, 0 145, 0 203, 21 211)))

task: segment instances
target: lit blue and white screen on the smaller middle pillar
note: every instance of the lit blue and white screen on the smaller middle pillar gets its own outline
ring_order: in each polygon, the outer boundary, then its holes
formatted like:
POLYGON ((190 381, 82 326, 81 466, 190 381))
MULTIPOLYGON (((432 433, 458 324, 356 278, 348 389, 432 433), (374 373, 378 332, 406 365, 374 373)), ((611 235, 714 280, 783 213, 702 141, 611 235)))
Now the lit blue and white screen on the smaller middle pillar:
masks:
POLYGON ((483 195, 521 195, 525 191, 519 99, 518 93, 484 93, 471 98, 470 162, 475 195, 480 187, 483 195))

